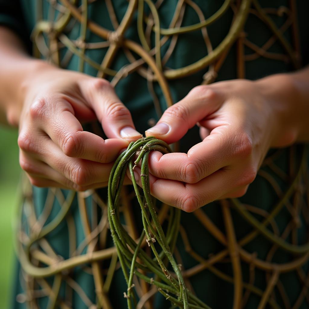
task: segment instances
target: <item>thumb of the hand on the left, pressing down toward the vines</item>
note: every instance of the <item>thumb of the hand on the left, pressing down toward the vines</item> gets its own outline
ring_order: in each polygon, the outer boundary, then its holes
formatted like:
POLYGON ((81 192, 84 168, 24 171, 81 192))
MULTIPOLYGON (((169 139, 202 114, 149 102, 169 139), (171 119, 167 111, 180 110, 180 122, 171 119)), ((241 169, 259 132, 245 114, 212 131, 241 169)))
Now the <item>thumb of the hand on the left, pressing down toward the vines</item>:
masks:
POLYGON ((142 137, 135 129, 129 109, 121 103, 107 80, 87 80, 86 84, 81 85, 81 90, 108 138, 124 138, 130 142, 142 137))

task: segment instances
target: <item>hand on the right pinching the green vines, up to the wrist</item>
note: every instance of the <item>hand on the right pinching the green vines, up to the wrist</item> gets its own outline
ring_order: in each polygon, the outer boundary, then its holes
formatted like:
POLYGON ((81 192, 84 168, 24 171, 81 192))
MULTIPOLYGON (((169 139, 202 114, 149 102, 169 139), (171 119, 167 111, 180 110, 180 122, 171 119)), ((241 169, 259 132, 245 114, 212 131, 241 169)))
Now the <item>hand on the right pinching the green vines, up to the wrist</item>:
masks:
POLYGON ((146 135, 173 143, 197 124, 202 142, 187 154, 152 152, 151 193, 187 212, 245 194, 269 148, 287 146, 296 137, 284 122, 281 102, 263 91, 264 85, 246 80, 198 86, 168 108, 146 135))

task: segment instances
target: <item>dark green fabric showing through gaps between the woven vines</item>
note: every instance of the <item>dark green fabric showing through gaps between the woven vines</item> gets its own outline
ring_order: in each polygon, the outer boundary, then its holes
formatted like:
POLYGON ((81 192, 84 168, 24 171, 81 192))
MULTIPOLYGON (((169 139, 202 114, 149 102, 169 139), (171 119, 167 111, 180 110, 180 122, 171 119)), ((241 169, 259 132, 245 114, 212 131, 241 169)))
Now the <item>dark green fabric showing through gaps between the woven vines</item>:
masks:
MULTIPOLYGON (((120 21, 126 11, 127 1, 126 0, 113 0, 112 1, 115 7, 116 15, 118 21, 120 21)), ((222 1, 217 0, 195 0, 198 6, 202 9, 205 14, 205 18, 211 16, 218 10, 218 8, 222 5, 222 1)), ((162 28, 167 28, 172 15, 175 11, 177 1, 176 0, 166 0, 161 8, 159 9, 160 22, 162 28)), ((260 1, 261 6, 263 7, 279 7, 281 5, 287 6, 288 1, 277 0, 272 1, 271 4, 269 1, 263 0, 260 1)), ((32 31, 35 22, 36 22, 36 1, 34 0, 21 0, 21 7, 24 14, 24 18, 26 20, 26 26, 28 28, 29 33, 32 31)), ((48 7, 49 4, 43 1, 43 19, 48 19, 48 7)), ((300 39, 301 39, 301 51, 303 55, 303 65, 306 65, 308 62, 308 54, 309 54, 309 27, 308 27, 308 12, 309 12, 309 3, 299 0, 297 1, 298 8, 298 21, 299 21, 299 29, 300 29, 300 39)), ((10 13, 11 14, 11 13, 10 13)), ((15 17, 10 16, 9 13, 3 15, 1 14, 0 7, 0 23, 7 25, 8 27, 14 28, 15 26, 20 27, 20 25, 16 25, 15 17), (14 27, 13 27, 14 26, 14 27)), ((13 14, 14 15, 14 14, 13 14)), ((106 9, 106 5, 104 1, 94 2, 89 6, 88 16, 90 19, 94 20, 96 23, 104 26, 105 28, 112 29, 112 24, 108 17, 108 12, 106 9)), ((232 20, 233 13, 231 9, 229 9, 224 15, 223 19, 218 20, 214 24, 210 25, 207 28, 209 33, 211 42, 213 44, 213 48, 215 48, 222 39, 226 36, 228 30, 230 29, 230 24, 232 20)), ((286 20, 286 16, 283 14, 282 16, 271 15, 274 22, 277 26, 280 26, 286 20)), ((190 25, 193 23, 199 22, 198 16, 190 9, 186 11, 184 16, 183 26, 190 25)), ((138 35, 136 29, 136 16, 134 17, 133 26, 129 27, 126 31, 125 36, 135 40, 138 42, 138 35)), ((265 43, 266 40, 271 36, 271 32, 269 28, 265 26, 265 24, 260 21, 255 15, 250 15, 250 18, 246 22, 245 32, 248 35, 248 39, 254 42, 256 45, 261 46, 265 43)), ((70 39, 77 39, 80 35, 79 23, 77 22, 74 28, 67 33, 70 39)), ((290 31, 285 33, 286 38, 291 41, 292 34, 290 31)), ((97 37, 95 34, 87 31, 87 42, 97 42, 101 39, 97 37)), ((167 45, 162 47, 162 52, 164 52, 167 48, 167 45)), ((105 49, 106 50, 106 49, 105 49)), ((277 53, 285 53, 281 44, 275 42, 271 47, 270 51, 277 53)), ((252 53, 251 50, 245 48, 245 53, 252 53)), ((102 49, 87 51, 87 56, 91 57, 91 59, 95 60, 98 63, 104 58, 104 52, 102 49)), ((205 43, 203 43, 203 38, 201 36, 200 31, 196 31, 190 34, 184 34, 179 37, 177 42, 176 49, 172 54, 171 58, 167 62, 167 66, 170 68, 179 68, 186 66, 194 61, 197 61, 201 57, 207 54, 207 50, 205 48, 205 43)), ((61 54, 63 57, 64 52, 61 54)), ((112 68, 115 70, 119 70, 123 65, 127 62, 125 55, 122 52, 117 54, 115 61, 113 61, 112 68)), ((77 70, 78 69, 78 57, 73 56, 67 69, 77 70)), ((245 73, 246 78, 248 79, 257 79, 264 77, 269 74, 279 73, 279 72, 288 72, 291 70, 291 66, 289 63, 284 61, 270 60, 265 59, 263 57, 259 57, 254 61, 249 61, 246 63, 245 73)), ((177 102, 182 99, 193 87, 199 85, 202 81, 202 76, 205 74, 207 70, 201 70, 196 74, 193 74, 186 78, 176 79, 169 81, 169 85, 171 87, 173 101, 177 102)), ((224 61, 222 68, 218 72, 218 78, 216 81, 233 79, 237 77, 236 73, 236 47, 235 44, 231 48, 226 60, 224 61)), ((84 72, 96 76, 97 71, 85 63, 84 72)), ((156 94, 159 97, 160 104, 162 109, 164 110, 165 101, 160 91, 159 87, 155 85, 156 94)), ((140 77, 138 74, 134 73, 129 75, 129 77, 121 80, 116 86, 116 92, 121 98, 122 102, 129 108, 132 113, 133 121, 136 125, 138 131, 143 132, 145 129, 149 127, 147 123, 149 119, 155 118, 158 120, 158 117, 155 114, 155 109, 153 106, 152 98, 147 89, 146 80, 140 77)), ((180 149, 181 151, 186 152, 192 145, 200 142, 200 138, 198 135, 197 127, 191 129, 188 134, 181 140, 180 149)), ((293 150, 284 149, 278 152, 275 163, 280 166, 284 171, 288 171, 290 163, 289 163, 289 153, 290 151, 295 152, 295 165, 299 164, 299 158, 302 152, 302 146, 294 146, 293 150)), ((271 155, 273 151, 270 151, 271 155)), ((288 187, 289 182, 284 182, 279 179, 271 169, 267 170, 276 180, 280 183, 280 188, 282 192, 285 192, 288 187)), ((308 188, 307 188, 308 189, 308 188)), ((65 192, 65 191, 64 191, 65 192)), ((105 190, 102 190, 102 196, 104 196, 105 190)), ((42 211, 42 207, 46 200, 47 189, 44 188, 33 188, 33 197, 35 202, 35 207, 37 211, 37 215, 39 215, 42 211)), ((264 210, 270 210, 270 208, 276 203, 278 197, 274 192, 272 186, 267 182, 263 177, 257 176, 256 180, 250 185, 248 192, 244 197, 241 198, 241 201, 254 205, 264 210)), ((75 203, 76 204, 76 203, 75 203)), ((136 205, 135 205, 136 206, 136 205)), ((60 205, 57 201, 55 201, 53 206, 53 211, 49 217, 48 222, 57 214, 60 205)), ((137 208, 135 208, 137 209, 137 208)), ((221 208, 218 203, 214 202, 206 207, 203 207, 203 211, 213 220, 213 222, 224 231, 224 223, 222 218, 221 208)), ((235 210, 232 211, 232 216, 234 220, 234 225, 236 228, 236 237, 237 239, 241 239, 244 235, 246 235, 249 231, 251 231, 251 227, 244 221, 242 217, 240 217, 235 210)), ((70 210, 70 213, 75 218, 79 225, 76 226, 77 231, 77 244, 80 243, 84 239, 83 229, 81 227, 80 219, 79 219, 79 211, 76 205, 70 210)), ((258 215, 256 218, 260 219, 258 215)), ((282 210, 280 214, 276 217, 276 222, 279 226, 279 229, 282 233, 287 222, 290 220, 290 215, 286 210, 282 210)), ((48 223, 47 222, 47 223, 48 223)), ((307 226, 304 218, 301 218, 302 227, 298 230, 298 241, 299 243, 305 243, 307 240, 306 231, 307 226)), ((201 225, 201 223, 196 219, 194 214, 183 213, 181 224, 184 226, 186 232, 188 233, 189 241, 192 248, 199 253, 204 258, 208 258, 208 256, 212 253, 219 252, 222 250, 222 245, 218 243, 201 225)), ((65 223, 61 224, 59 228, 53 232, 51 235, 48 235, 48 240, 52 244, 54 250, 57 254, 63 256, 64 258, 68 258, 68 233, 67 226, 65 223)), ((110 245, 112 245, 112 241, 110 239, 110 245)), ((249 243, 245 249, 248 252, 256 252, 257 256, 261 259, 265 259, 267 252, 269 251, 271 244, 268 240, 266 240, 263 236, 258 236, 254 241, 249 243)), ((192 259, 184 250, 184 245, 179 239, 177 242, 177 248, 181 253, 184 269, 188 269, 194 266, 197 262, 192 259)), ((286 262, 291 259, 290 254, 278 250, 273 257, 273 261, 286 262)), ((232 269, 230 264, 221 263, 216 265, 218 269, 222 272, 232 276, 232 269)), ((243 271, 243 280, 244 282, 249 281, 249 269, 248 264, 242 264, 243 271)), ((308 263, 303 265, 303 270, 307 274, 308 273, 308 263)), ((23 284, 19 281, 19 266, 17 268, 16 273, 16 284, 14 295, 23 292, 23 284)), ((88 297, 92 302, 95 302, 95 291, 94 291, 94 283, 93 278, 81 271, 79 268, 74 269, 72 274, 74 280, 76 280, 88 297)), ((205 270, 200 272, 198 275, 195 275, 191 278, 191 284, 194 287, 194 290, 198 297, 200 297, 203 301, 205 301, 208 305, 213 308, 231 308, 233 303, 233 286, 230 283, 226 283, 222 281, 218 277, 216 277, 209 270, 205 270)), ((53 282, 53 278, 50 278, 50 283, 53 282)), ((285 273, 280 275, 280 280, 284 289, 286 291, 287 298, 290 300, 290 303, 293 304, 299 293, 302 289, 302 282, 299 280, 295 272, 285 273)), ((267 278, 265 273, 256 269, 255 274, 255 285, 260 289, 265 290, 265 286, 267 285, 267 278)), ((126 299, 122 297, 123 292, 126 290, 125 282, 121 274, 121 270, 118 270, 114 280, 112 282, 112 288, 110 297, 113 302, 114 308, 125 308, 126 307, 126 299)), ((65 286, 61 287, 60 297, 65 293, 65 286)), ((277 302, 280 307, 284 307, 282 299, 276 290, 277 302)), ((156 308, 169 308, 169 302, 165 301, 161 296, 157 297, 156 308)), ((17 303, 14 299, 13 308, 21 309, 25 308, 25 304, 17 303)), ((250 294, 248 299, 246 308, 256 308, 258 303, 260 302, 260 298, 254 294, 250 294)), ((39 298, 38 305, 40 308, 46 308, 47 306, 47 298, 42 297, 39 298)), ((85 304, 81 301, 78 293, 73 294, 73 308, 82 309, 86 308, 85 304)), ((308 303, 304 300, 301 308, 308 308, 308 303)))

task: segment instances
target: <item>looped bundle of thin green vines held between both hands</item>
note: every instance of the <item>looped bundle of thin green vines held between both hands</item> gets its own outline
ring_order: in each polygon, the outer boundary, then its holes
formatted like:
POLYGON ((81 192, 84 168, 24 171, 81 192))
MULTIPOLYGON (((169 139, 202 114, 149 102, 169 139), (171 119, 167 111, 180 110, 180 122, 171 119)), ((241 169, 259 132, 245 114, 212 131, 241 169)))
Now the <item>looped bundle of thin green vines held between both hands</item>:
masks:
POLYGON ((158 150, 163 154, 171 152, 170 147, 165 142, 154 137, 141 138, 136 142, 131 142, 127 150, 116 160, 108 182, 108 221, 121 268, 128 285, 127 293, 124 294, 127 298, 128 308, 132 308, 132 299, 136 306, 135 295, 132 293, 134 274, 157 286, 158 291, 177 306, 184 309, 189 307, 209 308, 187 290, 179 265, 177 265, 173 257, 173 250, 179 232, 180 210, 171 208, 169 228, 166 235, 156 214, 149 186, 148 156, 150 150, 158 150), (136 155, 137 159, 135 159, 136 155), (140 162, 142 194, 139 191, 133 171, 134 167, 140 162), (143 231, 138 243, 128 235, 119 218, 119 198, 127 167, 129 167, 134 190, 142 211, 143 231), (148 247, 151 248, 155 260, 141 248, 144 235, 146 235, 145 241, 148 247), (158 252, 155 243, 159 245, 161 252, 158 252), (164 260, 171 264, 174 275, 167 269, 164 260), (128 270, 130 270, 129 273, 128 270), (154 274, 155 278, 145 276, 140 270, 154 274), (177 296, 177 298, 173 295, 177 296))

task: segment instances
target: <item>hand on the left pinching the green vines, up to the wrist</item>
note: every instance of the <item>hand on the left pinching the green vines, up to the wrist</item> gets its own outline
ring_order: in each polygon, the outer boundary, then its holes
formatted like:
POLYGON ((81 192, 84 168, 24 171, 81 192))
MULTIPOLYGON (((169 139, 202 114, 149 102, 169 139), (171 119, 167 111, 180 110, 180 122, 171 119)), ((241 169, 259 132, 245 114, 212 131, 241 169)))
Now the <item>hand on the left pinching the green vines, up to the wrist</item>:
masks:
POLYGON ((107 186, 119 152, 142 136, 104 79, 44 64, 22 92, 19 163, 35 186, 77 191, 107 186), (108 139, 83 131, 81 123, 95 119, 108 139))

